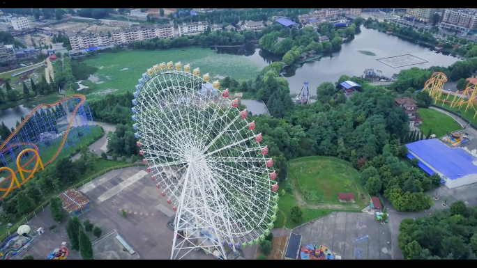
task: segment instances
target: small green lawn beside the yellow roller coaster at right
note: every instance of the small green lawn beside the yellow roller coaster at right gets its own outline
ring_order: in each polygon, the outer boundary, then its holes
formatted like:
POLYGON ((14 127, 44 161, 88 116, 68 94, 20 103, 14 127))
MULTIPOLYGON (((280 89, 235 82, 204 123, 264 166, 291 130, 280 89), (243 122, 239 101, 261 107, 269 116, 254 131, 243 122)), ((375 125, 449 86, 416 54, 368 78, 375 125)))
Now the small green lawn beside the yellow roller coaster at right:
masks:
POLYGON ((462 129, 462 126, 452 117, 440 111, 422 108, 419 109, 418 113, 423 118, 423 125, 419 125, 418 128, 421 129, 424 135, 427 135, 430 129, 432 129, 432 134, 435 134, 437 137, 444 136, 446 132, 462 129))

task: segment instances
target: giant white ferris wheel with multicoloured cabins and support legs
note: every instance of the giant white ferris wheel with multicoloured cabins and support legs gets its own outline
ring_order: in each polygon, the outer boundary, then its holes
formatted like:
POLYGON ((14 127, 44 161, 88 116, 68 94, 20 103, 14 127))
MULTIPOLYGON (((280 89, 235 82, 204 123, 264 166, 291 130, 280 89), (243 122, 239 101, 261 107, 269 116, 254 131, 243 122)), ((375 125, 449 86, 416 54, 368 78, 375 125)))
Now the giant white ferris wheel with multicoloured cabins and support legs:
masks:
MULTIPOLYGON (((172 259, 237 253, 277 219, 277 174, 248 112, 199 68, 160 63, 142 74, 132 127, 156 187, 176 212, 172 259)), ((217 256, 219 257, 219 256, 217 256)))

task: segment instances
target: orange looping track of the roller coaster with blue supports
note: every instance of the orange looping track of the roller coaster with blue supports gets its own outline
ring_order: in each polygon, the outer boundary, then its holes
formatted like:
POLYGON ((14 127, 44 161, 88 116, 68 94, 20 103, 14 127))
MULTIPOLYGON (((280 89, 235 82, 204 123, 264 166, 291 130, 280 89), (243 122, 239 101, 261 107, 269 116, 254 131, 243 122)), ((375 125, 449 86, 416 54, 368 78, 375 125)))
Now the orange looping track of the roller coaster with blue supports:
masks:
MULTIPOLYGON (((80 99, 81 102, 79 102, 78 104, 76 104, 76 107, 75 109, 73 110, 73 113, 71 114, 71 119, 70 119, 70 122, 68 123, 68 128, 66 129, 66 132, 65 134, 63 134, 63 139, 61 140, 61 143, 59 145, 59 148, 58 150, 56 150, 55 154, 53 155, 53 157, 48 160, 43 166, 47 166, 48 164, 51 164, 52 161, 54 161, 54 159, 56 159, 56 157, 58 157, 58 155, 60 154, 61 152, 61 149, 63 149, 63 145, 65 145, 65 142, 66 142, 66 138, 68 137, 68 133, 70 132, 70 128, 71 128, 71 125, 73 125, 73 121, 75 120, 75 116, 76 116, 76 112, 77 110, 79 109, 79 107, 81 107, 82 104, 84 104, 84 102, 86 102, 86 97, 84 97, 84 95, 81 95, 81 94, 75 94, 75 95, 72 95, 70 97, 64 97, 62 98, 61 100, 58 100, 57 102, 54 102, 52 104, 38 104, 32 111, 31 113, 29 113, 29 115, 22 121, 22 123, 20 123, 20 125, 17 126, 17 128, 15 129, 14 132, 12 132, 10 134, 10 136, 8 136, 7 139, 5 139, 5 141, 3 141, 3 143, 1 143, 0 145, 0 154, 2 154, 3 152, 5 152, 6 150, 12 148, 12 147, 15 147, 15 146, 18 146, 18 145, 30 145, 32 146, 33 148, 36 148, 36 151, 38 152, 38 146, 33 144, 33 143, 15 143, 15 144, 12 144, 12 145, 9 145, 8 147, 6 147, 6 145, 8 144, 8 141, 10 141, 11 139, 13 139, 13 136, 15 136, 18 132, 20 132, 20 129, 22 128, 22 126, 27 123, 27 121, 29 120, 29 118, 31 118, 31 116, 33 116, 33 114, 36 113, 36 111, 38 109, 40 109, 41 107, 47 107, 47 108, 50 108, 50 107, 54 107, 55 105, 57 104, 60 104, 61 102, 66 102, 66 100, 71 100, 71 99, 80 99)), ((25 180, 22 180, 22 182, 20 183, 20 185, 23 185, 25 182, 27 182, 28 180, 30 180, 31 178, 33 178, 33 174, 38 171, 38 161, 40 161, 39 157, 37 157, 37 163, 36 163, 36 166, 35 168, 31 169, 31 170, 26 170, 24 169, 25 166, 27 166, 28 164, 31 163, 31 161, 33 161, 33 159, 35 159, 35 157, 31 158, 26 164, 22 165, 21 168, 23 171, 27 171, 27 172, 31 172, 30 175, 25 179, 25 180)), ((17 161, 17 164, 19 164, 19 162, 17 161)), ((20 171, 20 166, 19 166, 19 170, 15 171, 13 174, 10 174, 10 176, 8 176, 6 178, 5 181, 7 181, 8 179, 12 178, 12 176, 15 174, 15 173, 18 173, 20 171)), ((17 186, 18 187, 18 186, 17 186)), ((16 189, 17 187, 14 187, 13 186, 13 181, 10 183, 10 187, 8 187, 7 191, 5 192, 5 194, 3 194, 3 196, 0 198, 3 199, 5 198, 5 196, 8 195, 8 193, 10 191, 12 191, 13 189, 16 189)), ((0 190, 4 190, 3 188, 0 188, 0 190)))

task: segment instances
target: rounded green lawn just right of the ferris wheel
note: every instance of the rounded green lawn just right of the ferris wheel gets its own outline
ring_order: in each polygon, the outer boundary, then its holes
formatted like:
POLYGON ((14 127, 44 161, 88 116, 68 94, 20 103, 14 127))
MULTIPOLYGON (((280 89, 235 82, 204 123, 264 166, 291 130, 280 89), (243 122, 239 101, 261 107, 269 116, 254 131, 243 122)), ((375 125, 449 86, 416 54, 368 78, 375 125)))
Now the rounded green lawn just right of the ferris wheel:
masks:
POLYGON ((359 184, 358 171, 342 159, 303 157, 292 160, 288 178, 309 205, 339 203, 338 192, 354 193, 355 204, 361 208, 369 203, 368 194, 359 184))

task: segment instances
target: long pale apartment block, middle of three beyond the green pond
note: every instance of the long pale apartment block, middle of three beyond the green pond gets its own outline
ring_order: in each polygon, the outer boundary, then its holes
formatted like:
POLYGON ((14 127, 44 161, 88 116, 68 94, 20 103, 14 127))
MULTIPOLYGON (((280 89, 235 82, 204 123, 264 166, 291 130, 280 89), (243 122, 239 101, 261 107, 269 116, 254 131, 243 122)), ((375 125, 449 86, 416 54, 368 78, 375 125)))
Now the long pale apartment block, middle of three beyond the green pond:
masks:
POLYGON ((173 38, 174 25, 155 25, 147 27, 137 27, 127 30, 116 30, 112 32, 112 38, 116 45, 128 44, 136 40, 148 40, 152 38, 173 38))

